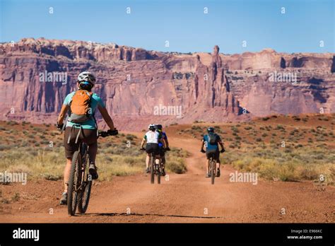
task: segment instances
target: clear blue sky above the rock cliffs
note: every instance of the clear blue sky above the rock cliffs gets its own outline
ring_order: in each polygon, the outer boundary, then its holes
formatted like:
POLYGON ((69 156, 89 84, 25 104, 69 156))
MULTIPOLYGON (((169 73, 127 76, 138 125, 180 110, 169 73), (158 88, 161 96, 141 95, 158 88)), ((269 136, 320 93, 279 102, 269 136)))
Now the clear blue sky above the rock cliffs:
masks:
POLYGON ((266 47, 289 53, 334 52, 334 0, 0 2, 0 42, 45 37, 171 52, 211 52, 214 45, 229 54, 266 47), (165 47, 166 40, 170 47, 165 47), (247 47, 242 47, 244 40, 247 47), (319 47, 321 40, 324 47, 319 47))

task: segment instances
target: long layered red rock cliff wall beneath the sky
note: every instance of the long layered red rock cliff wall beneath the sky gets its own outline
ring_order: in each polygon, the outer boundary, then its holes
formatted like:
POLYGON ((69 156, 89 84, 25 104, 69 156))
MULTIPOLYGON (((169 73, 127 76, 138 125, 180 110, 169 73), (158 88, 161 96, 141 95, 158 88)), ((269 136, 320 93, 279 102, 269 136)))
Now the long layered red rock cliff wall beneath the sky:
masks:
POLYGON ((329 53, 264 49, 223 55, 216 46, 212 54, 173 54, 115 44, 23 39, 0 45, 0 119, 54 122, 66 94, 76 89, 76 76, 85 70, 98 77, 95 92, 121 129, 320 108, 334 112, 334 63, 329 53))

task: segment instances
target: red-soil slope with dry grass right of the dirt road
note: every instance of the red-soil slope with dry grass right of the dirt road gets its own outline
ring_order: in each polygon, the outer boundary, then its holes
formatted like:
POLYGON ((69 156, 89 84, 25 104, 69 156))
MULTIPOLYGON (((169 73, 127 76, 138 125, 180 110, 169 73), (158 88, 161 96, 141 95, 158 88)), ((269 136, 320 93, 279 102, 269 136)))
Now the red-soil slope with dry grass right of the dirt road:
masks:
POLYGON ((257 118, 242 123, 194 122, 169 127, 179 136, 201 139, 213 126, 225 144, 221 162, 238 170, 258 172, 269 180, 335 182, 335 115, 300 115, 257 118))

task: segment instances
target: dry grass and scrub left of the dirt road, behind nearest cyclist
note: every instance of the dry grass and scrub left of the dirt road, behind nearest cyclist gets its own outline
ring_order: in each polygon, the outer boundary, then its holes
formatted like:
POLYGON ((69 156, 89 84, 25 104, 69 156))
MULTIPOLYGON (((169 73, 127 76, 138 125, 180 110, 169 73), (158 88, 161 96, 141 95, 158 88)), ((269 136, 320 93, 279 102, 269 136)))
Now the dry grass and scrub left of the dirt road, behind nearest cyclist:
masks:
MULTIPOLYGON (((0 172, 26 172, 28 179, 44 177, 59 180, 63 177, 65 156, 63 136, 50 125, 0 122, 0 172), (52 145, 50 145, 52 141, 52 145)), ((99 139, 99 179, 134 175, 145 169, 146 154, 139 151, 141 139, 131 134, 99 139)), ((172 148, 167 153, 167 171, 186 172, 185 151, 172 148)))

